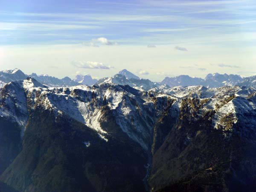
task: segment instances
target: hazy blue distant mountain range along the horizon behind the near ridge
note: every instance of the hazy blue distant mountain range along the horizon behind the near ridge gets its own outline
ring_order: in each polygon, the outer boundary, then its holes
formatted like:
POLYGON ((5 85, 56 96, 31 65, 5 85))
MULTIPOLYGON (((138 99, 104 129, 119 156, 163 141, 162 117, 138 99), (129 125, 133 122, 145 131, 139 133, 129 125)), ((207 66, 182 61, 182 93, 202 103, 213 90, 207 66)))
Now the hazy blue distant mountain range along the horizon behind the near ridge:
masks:
POLYGON ((198 86, 202 85, 205 87, 222 87, 222 86, 245 86, 245 87, 256 87, 256 76, 244 77, 242 78, 239 75, 227 75, 209 73, 205 79, 198 77, 190 77, 187 75, 180 75, 176 77, 166 77, 161 82, 153 82, 149 79, 140 79, 138 76, 124 69, 119 71, 116 75, 112 77, 105 77, 102 79, 93 79, 89 74, 85 76, 76 75, 76 78, 71 80, 69 77, 64 77, 63 79, 58 79, 48 75, 40 75, 38 76, 35 73, 31 75, 24 74, 21 70, 4 70, 0 71, 0 87, 3 87, 4 84, 9 83, 11 81, 22 80, 26 77, 32 77, 42 84, 48 87, 69 87, 75 86, 79 84, 84 84, 91 86, 93 84, 101 84, 101 83, 114 83, 114 84, 128 84, 131 87, 134 87, 138 90, 150 90, 152 88, 169 88, 175 86, 198 86))

